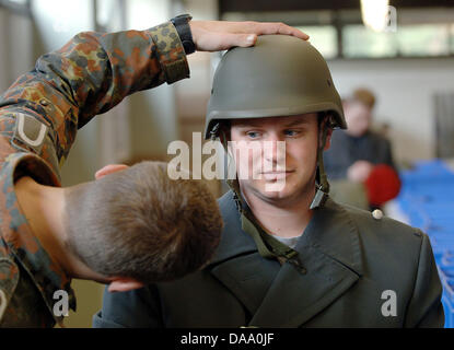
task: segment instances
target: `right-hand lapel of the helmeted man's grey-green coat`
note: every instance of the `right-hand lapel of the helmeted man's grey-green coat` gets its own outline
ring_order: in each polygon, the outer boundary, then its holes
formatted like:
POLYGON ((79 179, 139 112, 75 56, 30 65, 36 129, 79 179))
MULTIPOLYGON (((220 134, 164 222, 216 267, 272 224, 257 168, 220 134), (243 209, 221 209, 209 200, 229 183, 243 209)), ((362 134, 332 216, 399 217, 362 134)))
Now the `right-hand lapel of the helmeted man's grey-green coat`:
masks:
POLYGON ((362 273, 357 228, 331 200, 314 212, 295 249, 307 272, 284 264, 249 325, 299 327, 340 298, 362 273))

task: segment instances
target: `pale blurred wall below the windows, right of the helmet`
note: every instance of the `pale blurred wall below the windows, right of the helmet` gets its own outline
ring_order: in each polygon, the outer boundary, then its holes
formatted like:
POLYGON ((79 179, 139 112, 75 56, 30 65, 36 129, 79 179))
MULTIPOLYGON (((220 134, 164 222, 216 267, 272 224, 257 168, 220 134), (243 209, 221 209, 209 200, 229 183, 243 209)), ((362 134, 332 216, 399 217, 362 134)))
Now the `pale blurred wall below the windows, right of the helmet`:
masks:
POLYGON ((391 125, 398 162, 435 155, 433 94, 454 92, 453 59, 335 60, 328 66, 342 97, 359 86, 376 94, 375 120, 391 125))

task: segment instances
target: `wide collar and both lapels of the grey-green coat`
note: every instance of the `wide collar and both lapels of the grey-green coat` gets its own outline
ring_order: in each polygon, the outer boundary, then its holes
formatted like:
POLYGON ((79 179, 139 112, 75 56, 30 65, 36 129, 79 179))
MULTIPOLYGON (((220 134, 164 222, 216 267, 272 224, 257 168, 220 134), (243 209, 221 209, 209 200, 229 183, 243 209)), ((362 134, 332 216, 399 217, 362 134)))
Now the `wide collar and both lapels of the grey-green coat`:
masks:
POLYGON ((211 273, 246 306, 252 326, 299 327, 362 275, 358 229, 348 211, 330 199, 314 212, 296 244, 305 275, 258 255, 254 240, 241 230, 231 192, 219 203, 225 226, 211 273))

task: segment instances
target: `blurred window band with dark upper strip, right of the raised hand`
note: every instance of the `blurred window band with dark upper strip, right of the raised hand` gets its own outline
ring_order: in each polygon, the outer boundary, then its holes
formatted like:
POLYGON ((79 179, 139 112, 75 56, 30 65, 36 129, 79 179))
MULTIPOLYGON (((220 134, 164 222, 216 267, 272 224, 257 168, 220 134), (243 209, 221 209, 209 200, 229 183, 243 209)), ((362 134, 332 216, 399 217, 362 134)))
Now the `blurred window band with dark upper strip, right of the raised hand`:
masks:
MULTIPOLYGON (((358 1, 359 3, 359 1, 358 1)), ((397 8, 394 25, 374 32, 360 9, 224 12, 223 20, 284 22, 307 33, 326 59, 381 59, 454 56, 454 8, 397 8)))

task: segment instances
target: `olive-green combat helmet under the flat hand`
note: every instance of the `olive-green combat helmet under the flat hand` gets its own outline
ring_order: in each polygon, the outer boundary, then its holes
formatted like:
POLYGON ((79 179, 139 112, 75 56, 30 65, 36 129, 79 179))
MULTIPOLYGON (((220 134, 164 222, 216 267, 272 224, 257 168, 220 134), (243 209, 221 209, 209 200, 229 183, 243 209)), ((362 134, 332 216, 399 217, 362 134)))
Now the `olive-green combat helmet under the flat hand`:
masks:
POLYGON ((235 47, 221 59, 208 104, 205 137, 222 119, 328 112, 346 129, 342 104, 323 56, 307 42, 264 35, 253 47, 235 47))

